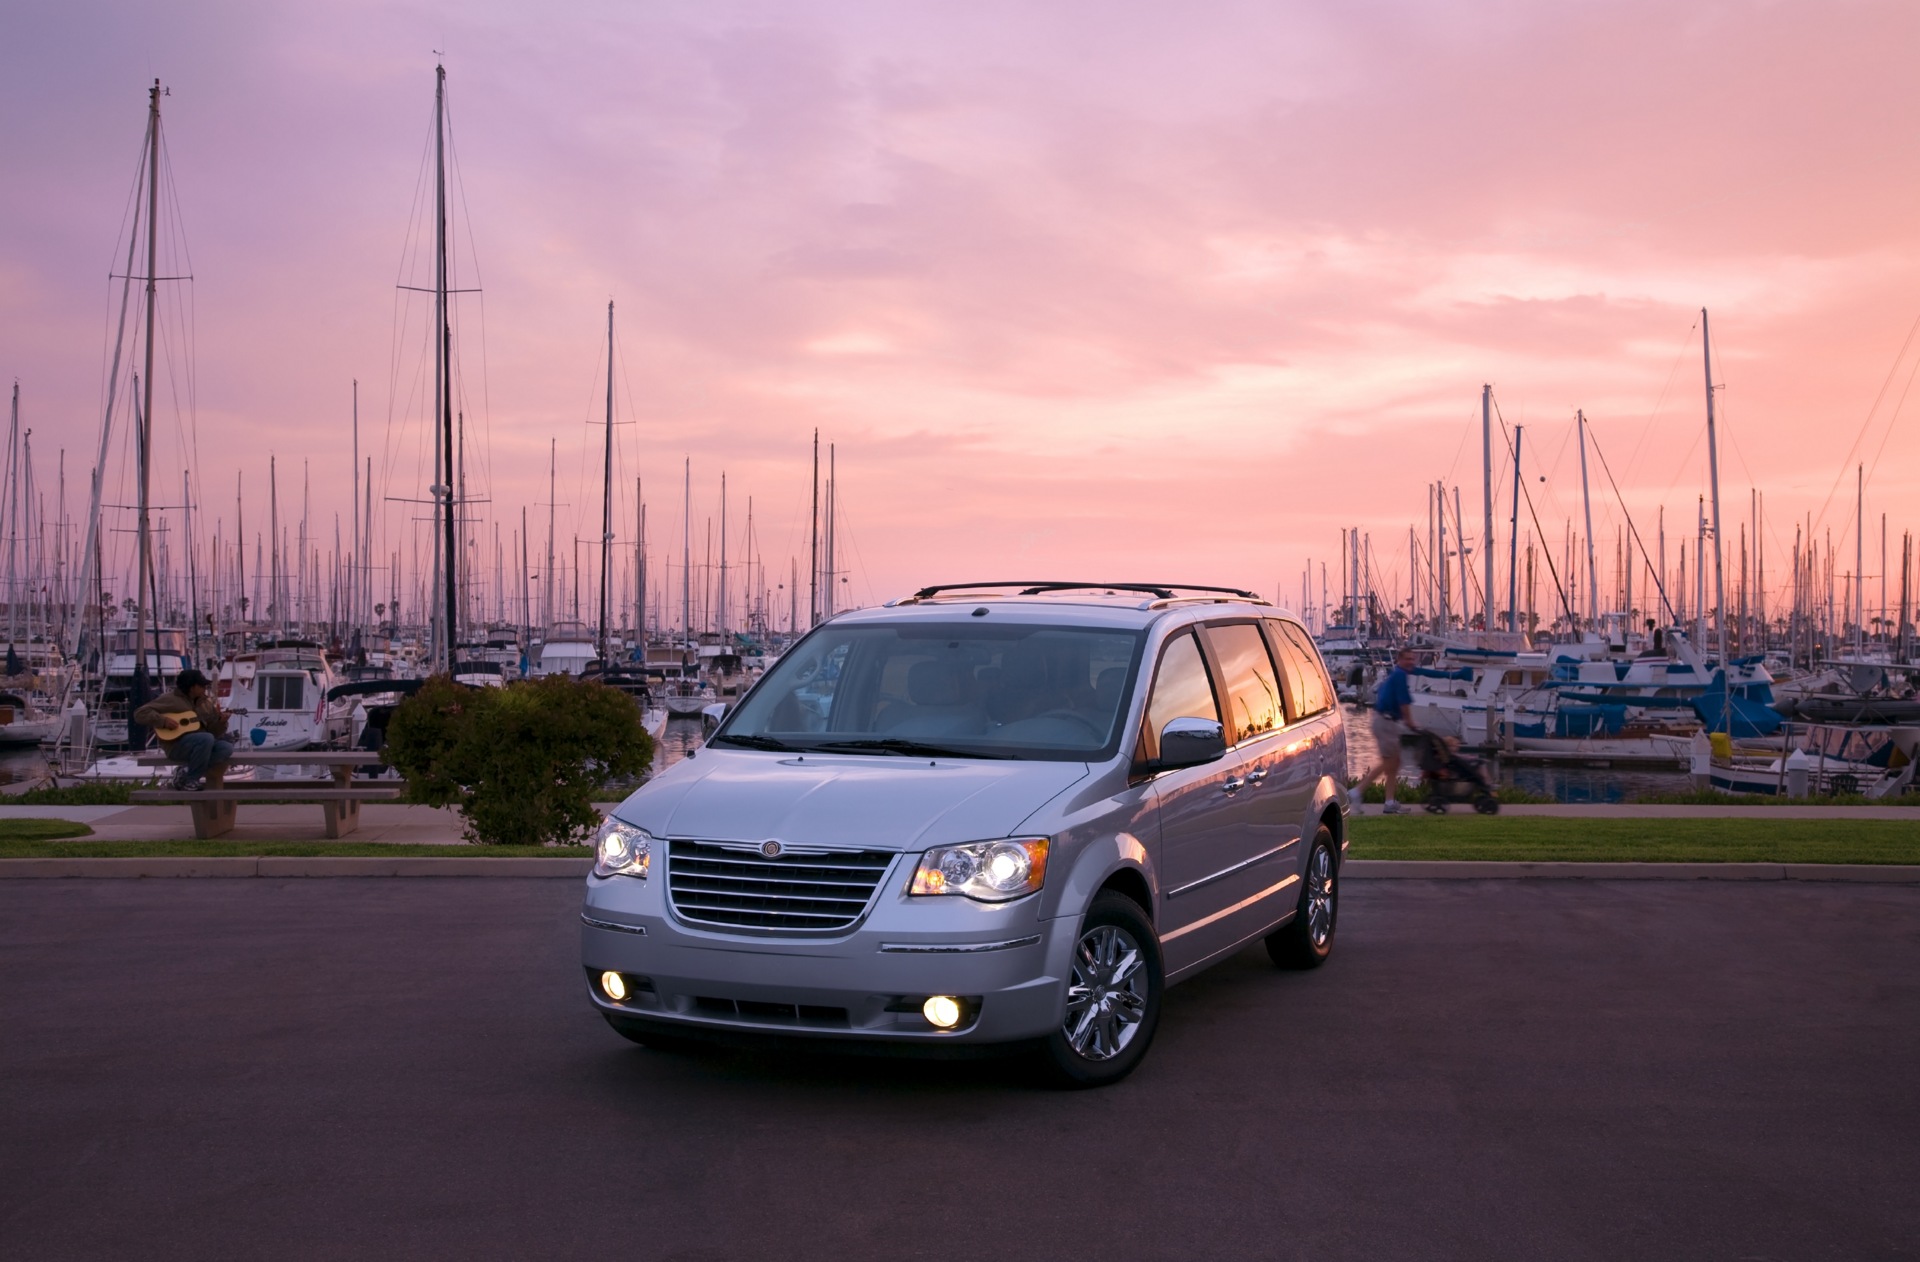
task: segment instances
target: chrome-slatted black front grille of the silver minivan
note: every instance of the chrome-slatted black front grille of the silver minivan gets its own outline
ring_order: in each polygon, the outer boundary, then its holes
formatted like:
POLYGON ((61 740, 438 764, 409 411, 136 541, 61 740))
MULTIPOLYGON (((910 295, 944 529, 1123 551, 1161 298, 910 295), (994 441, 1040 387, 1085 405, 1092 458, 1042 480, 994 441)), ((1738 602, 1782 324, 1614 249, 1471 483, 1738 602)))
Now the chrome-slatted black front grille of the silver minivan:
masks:
POLYGON ((762 859, 703 841, 666 843, 666 893, 691 924, 728 930, 845 930, 874 899, 891 851, 762 859))

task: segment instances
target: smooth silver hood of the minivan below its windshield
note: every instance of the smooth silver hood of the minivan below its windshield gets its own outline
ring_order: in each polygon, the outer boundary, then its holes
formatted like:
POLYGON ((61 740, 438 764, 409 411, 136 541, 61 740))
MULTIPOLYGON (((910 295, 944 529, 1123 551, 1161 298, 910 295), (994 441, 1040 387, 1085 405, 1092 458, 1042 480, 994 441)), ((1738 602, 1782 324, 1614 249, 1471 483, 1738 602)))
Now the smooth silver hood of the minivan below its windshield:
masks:
POLYGON ((1006 837, 1087 770, 1085 763, 707 747, 616 814, 657 837, 920 851, 1006 837))

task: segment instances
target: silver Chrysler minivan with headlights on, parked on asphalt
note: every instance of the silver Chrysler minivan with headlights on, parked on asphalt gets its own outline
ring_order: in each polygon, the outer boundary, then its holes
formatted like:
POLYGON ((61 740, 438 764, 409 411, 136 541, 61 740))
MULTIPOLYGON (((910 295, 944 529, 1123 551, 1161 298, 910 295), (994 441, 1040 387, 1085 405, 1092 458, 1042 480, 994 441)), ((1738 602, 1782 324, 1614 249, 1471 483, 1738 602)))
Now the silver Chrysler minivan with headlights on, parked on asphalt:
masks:
POLYGON ((588 993, 636 1043, 1031 1043, 1129 1074, 1167 985, 1334 939, 1346 734, 1250 592, 960 584, 845 613, 605 822, 588 993))

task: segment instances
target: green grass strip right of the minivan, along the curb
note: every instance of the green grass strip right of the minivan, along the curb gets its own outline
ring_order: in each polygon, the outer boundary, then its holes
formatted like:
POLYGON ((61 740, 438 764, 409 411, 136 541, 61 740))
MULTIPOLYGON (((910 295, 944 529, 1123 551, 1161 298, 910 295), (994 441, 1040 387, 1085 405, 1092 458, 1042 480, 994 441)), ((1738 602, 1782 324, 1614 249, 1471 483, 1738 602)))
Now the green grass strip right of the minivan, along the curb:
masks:
POLYGON ((1350 859, 1920 862, 1920 818, 1580 820, 1417 813, 1365 814, 1350 824, 1350 859))

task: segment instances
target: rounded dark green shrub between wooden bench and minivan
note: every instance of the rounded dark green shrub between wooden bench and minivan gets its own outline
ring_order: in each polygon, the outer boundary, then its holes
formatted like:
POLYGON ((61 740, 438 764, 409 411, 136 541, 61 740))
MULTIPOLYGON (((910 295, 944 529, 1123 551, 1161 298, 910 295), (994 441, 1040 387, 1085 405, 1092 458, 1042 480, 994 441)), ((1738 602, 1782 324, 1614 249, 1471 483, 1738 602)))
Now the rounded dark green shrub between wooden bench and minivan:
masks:
POLYGON ((653 738, 634 699, 601 684, 434 676, 394 711, 386 757, 411 801, 459 807, 468 839, 549 845, 599 826, 601 786, 647 770, 653 738))

